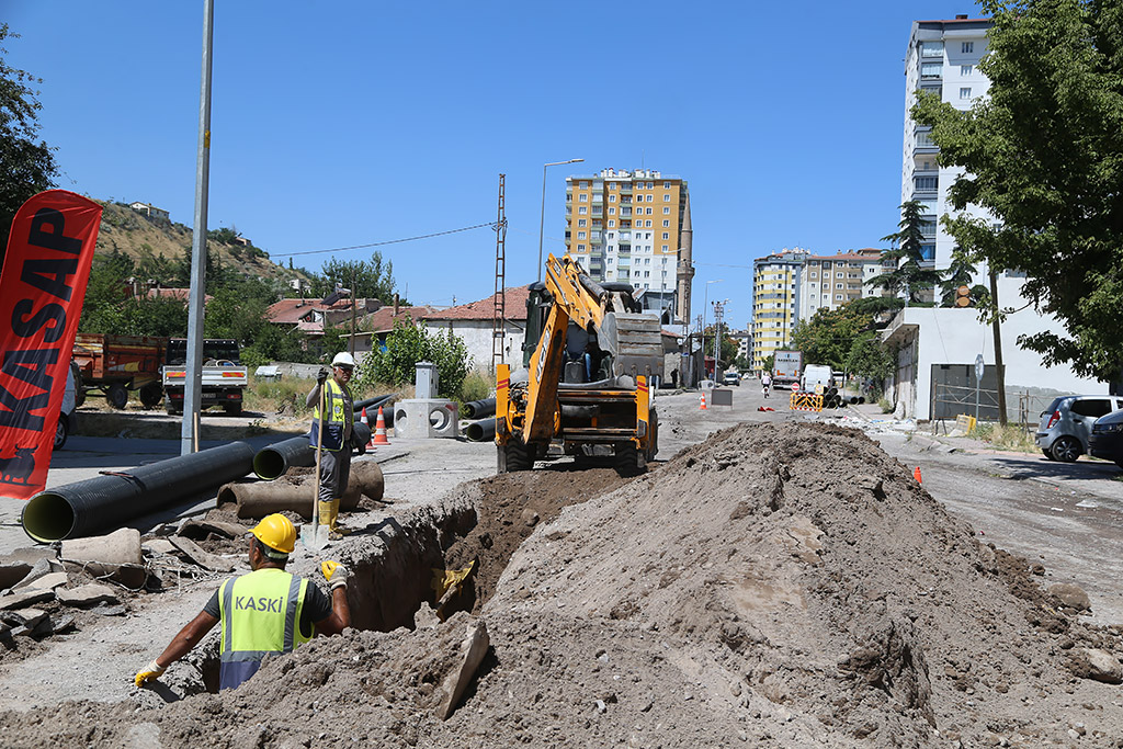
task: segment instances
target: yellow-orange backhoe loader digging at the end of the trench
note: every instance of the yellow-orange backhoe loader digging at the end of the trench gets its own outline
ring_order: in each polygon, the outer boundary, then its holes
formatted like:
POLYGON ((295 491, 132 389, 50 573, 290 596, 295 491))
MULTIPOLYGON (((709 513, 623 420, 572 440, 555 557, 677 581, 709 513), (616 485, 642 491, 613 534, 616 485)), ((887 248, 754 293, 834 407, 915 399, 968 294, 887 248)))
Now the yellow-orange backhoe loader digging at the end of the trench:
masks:
POLYGON ((661 331, 631 292, 594 281, 569 255, 548 257, 546 282, 527 300, 523 366, 497 367, 499 473, 570 455, 633 474, 655 458, 659 421, 648 383, 661 372, 661 331))

